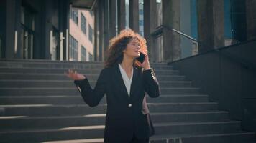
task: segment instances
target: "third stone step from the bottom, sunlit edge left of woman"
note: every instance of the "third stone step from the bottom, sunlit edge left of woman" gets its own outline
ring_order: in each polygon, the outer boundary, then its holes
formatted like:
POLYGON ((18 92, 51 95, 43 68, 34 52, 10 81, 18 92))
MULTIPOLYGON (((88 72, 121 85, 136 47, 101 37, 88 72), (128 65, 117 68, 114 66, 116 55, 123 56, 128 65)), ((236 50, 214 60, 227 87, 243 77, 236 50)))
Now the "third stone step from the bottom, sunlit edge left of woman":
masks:
MULTIPOLYGON (((106 114, 80 116, 0 117, 0 131, 6 129, 43 129, 50 127, 91 126, 105 123, 106 114)), ((163 112, 150 113, 152 122, 214 122, 228 121, 228 112, 163 112)))

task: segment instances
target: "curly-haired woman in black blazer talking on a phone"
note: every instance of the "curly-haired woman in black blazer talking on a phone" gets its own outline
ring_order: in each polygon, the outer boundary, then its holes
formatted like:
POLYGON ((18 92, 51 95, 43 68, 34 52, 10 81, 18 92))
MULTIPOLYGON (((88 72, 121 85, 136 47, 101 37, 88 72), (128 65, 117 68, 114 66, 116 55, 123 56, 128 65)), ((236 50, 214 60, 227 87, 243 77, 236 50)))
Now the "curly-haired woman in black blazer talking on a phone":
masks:
POLYGON ((94 89, 86 75, 68 70, 84 101, 95 107, 106 94, 107 111, 104 142, 149 142, 150 127, 143 114, 145 92, 159 97, 160 89, 155 73, 150 68, 146 41, 130 29, 111 39, 107 59, 94 89), (145 60, 136 60, 141 52, 145 60))

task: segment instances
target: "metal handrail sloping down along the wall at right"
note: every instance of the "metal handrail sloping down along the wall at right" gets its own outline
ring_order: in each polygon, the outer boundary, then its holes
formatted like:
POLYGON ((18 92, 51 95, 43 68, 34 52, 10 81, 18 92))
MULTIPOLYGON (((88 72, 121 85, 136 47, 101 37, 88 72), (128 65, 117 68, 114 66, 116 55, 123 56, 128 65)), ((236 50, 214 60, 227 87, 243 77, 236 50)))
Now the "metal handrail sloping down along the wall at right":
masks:
POLYGON ((211 48, 213 47, 214 49, 211 49, 209 51, 216 51, 218 54, 221 54, 221 55, 223 55, 223 56, 225 56, 229 59, 232 59, 232 61, 235 61, 239 64, 242 64, 242 66, 246 69, 256 70, 256 66, 254 64, 250 63, 249 61, 245 61, 244 59, 238 58, 237 56, 227 54, 227 52, 224 53, 223 51, 217 49, 215 46, 209 46, 207 44, 204 44, 203 42, 198 41, 198 40, 194 39, 193 37, 188 36, 187 34, 184 34, 183 32, 178 31, 176 29, 173 29, 169 26, 165 26, 165 25, 157 26, 157 29, 154 32, 152 32, 151 36, 153 36, 153 37, 160 36, 161 34, 163 34, 163 29, 168 29, 170 31, 175 31, 175 33, 178 33, 181 36, 185 36, 186 38, 191 39, 192 41, 196 41, 198 44, 201 44, 202 46, 207 46, 207 47, 211 47, 211 48))

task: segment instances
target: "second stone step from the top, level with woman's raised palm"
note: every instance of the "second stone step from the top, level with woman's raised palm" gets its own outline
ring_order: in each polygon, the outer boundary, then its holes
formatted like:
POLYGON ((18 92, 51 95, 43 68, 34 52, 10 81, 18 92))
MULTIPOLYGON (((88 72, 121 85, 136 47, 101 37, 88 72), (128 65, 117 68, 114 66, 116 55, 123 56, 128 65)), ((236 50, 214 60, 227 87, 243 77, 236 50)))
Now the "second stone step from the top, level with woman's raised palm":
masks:
MULTIPOLYGON (((60 68, 17 68, 17 67, 0 67, 1 73, 38 73, 38 74, 64 74, 68 69, 60 69, 60 68)), ((81 74, 99 74, 101 69, 78 69, 78 73, 81 74)), ((178 75, 178 70, 160 70, 155 69, 155 74, 163 74, 163 75, 178 75)))

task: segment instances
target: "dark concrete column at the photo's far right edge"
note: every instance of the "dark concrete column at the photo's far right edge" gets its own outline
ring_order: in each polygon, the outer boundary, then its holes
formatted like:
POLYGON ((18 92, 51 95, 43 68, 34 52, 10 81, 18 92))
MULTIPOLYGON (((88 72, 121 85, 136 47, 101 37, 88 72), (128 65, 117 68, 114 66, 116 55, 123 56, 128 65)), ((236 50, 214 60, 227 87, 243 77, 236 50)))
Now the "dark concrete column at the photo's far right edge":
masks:
POLYGON ((256 39, 256 1, 246 1, 247 40, 256 39))

